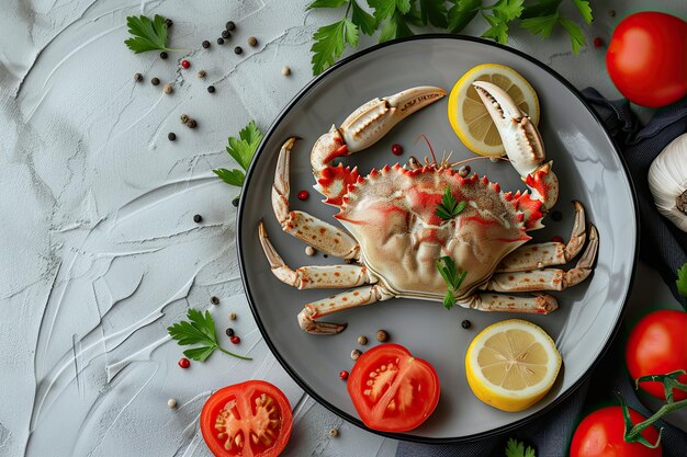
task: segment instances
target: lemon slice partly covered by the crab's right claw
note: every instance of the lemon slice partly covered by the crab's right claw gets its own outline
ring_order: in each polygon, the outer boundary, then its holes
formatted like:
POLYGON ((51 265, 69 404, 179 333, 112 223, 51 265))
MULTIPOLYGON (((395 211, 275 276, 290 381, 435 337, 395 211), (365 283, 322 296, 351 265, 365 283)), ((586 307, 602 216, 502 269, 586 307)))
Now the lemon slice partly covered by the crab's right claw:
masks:
POLYGON ((487 113, 474 81, 492 82, 515 101, 521 112, 539 124, 539 100, 534 89, 513 68, 483 64, 472 68, 458 80, 449 95, 449 122, 468 149, 481 156, 504 156, 506 151, 498 130, 487 113))

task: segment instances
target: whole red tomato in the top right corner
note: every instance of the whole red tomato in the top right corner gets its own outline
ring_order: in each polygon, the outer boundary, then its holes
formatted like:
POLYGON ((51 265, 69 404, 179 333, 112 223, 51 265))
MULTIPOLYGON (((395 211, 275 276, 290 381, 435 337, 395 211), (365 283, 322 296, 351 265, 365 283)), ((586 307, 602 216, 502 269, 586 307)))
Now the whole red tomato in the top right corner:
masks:
POLYGON ((606 67, 616 88, 642 106, 665 106, 687 93, 687 22, 647 11, 613 31, 606 67))

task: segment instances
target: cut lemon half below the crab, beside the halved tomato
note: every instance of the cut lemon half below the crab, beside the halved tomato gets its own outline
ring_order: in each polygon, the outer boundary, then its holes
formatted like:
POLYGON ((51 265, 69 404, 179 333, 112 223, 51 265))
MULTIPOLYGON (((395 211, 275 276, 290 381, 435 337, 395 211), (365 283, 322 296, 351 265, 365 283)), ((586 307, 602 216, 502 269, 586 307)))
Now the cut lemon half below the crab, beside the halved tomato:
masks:
POLYGON ((473 393, 503 411, 522 411, 553 386, 561 355, 533 323, 510 319, 484 329, 468 347, 465 375, 473 393))

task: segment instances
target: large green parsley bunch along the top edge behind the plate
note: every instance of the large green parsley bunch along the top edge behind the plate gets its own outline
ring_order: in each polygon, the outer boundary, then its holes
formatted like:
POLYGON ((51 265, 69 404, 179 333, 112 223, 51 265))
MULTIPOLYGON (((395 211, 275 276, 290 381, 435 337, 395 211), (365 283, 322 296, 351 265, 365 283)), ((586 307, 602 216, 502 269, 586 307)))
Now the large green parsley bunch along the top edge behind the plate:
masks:
MULTIPOLYGON (((460 33, 477 14, 488 24, 483 37, 500 44, 508 42, 508 31, 514 24, 527 28, 542 39, 551 36, 559 26, 570 35, 573 53, 586 45, 579 24, 564 18, 559 7, 564 0, 498 0, 492 4, 484 0, 367 0, 370 14, 362 0, 315 0, 307 10, 319 8, 341 8, 346 5, 344 19, 319 27, 314 34, 313 73, 319 75, 330 67, 344 53, 346 46, 358 46, 359 34, 374 35, 379 32, 380 43, 412 36, 415 28, 429 25, 449 33, 460 33)), ((582 20, 592 22, 592 7, 588 0, 572 1, 582 20)))

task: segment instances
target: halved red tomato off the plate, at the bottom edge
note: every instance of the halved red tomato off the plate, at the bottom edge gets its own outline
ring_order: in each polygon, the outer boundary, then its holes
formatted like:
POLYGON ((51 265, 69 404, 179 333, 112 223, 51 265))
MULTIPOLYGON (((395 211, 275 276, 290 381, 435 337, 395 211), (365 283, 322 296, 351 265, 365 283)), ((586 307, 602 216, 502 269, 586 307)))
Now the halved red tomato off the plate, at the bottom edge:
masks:
POLYGON ((249 380, 213 393, 201 432, 216 457, 275 457, 291 436, 291 405, 275 386, 249 380))

